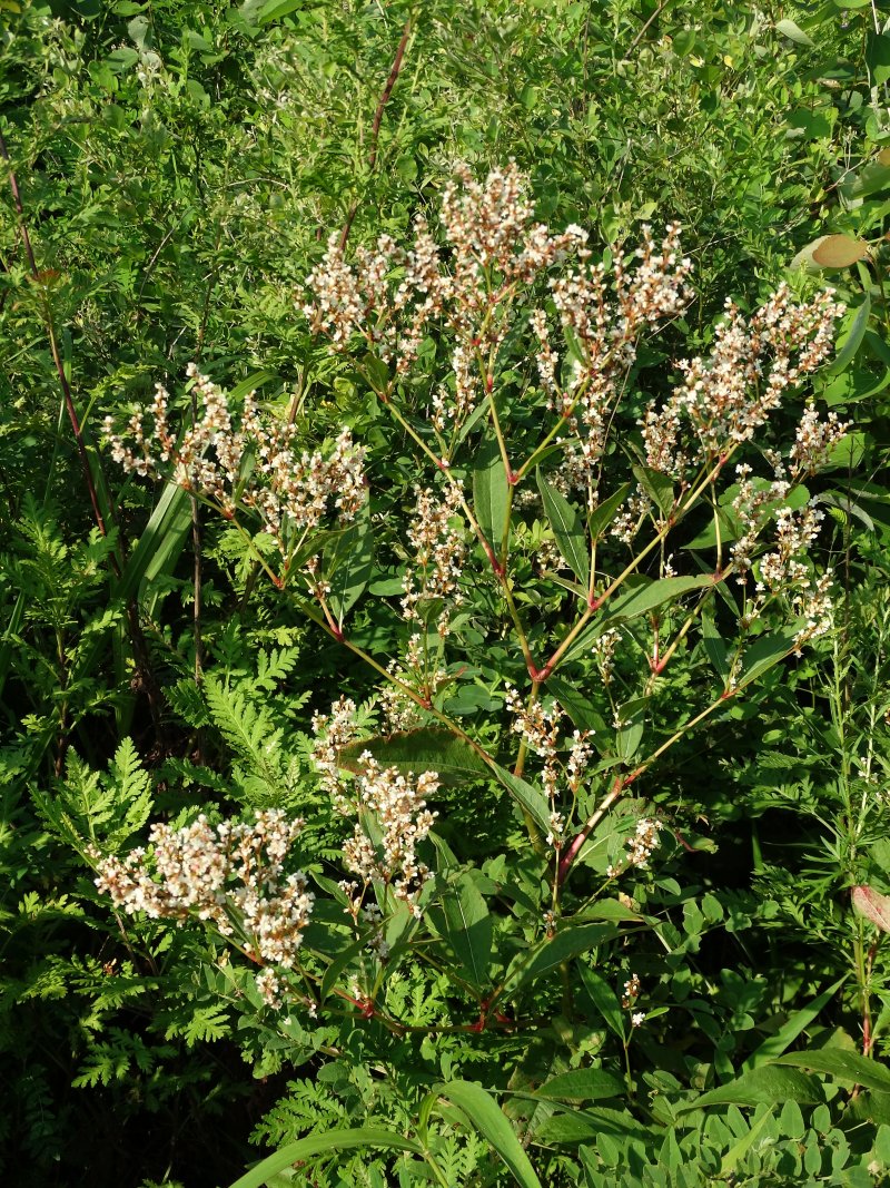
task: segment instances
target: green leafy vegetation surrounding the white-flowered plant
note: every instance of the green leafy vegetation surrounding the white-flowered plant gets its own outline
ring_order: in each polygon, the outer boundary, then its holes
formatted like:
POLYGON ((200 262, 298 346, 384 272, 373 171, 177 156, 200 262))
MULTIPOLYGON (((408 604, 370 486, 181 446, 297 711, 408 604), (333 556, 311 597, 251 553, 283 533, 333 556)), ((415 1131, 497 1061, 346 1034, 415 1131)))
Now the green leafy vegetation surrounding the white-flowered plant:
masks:
MULTIPOLYGON (((500 1100, 546 1183, 857 1184, 890 1168, 879 1059, 890 990, 873 929, 850 904, 853 885, 890 891, 884 8, 0 0, 0 132, 24 210, 5 187, 8 1182, 228 1183, 265 1149, 307 1133, 374 1121, 411 1130, 430 1086, 457 1079, 511 1091, 500 1100), (820 560, 843 588, 837 630, 653 772, 647 796, 682 824, 634 889, 640 911, 660 921, 634 942, 634 969, 651 987, 651 1023, 632 1040, 636 1091, 616 1099, 614 1085, 589 1079, 559 1108, 523 1092, 625 1043, 619 949, 602 971, 581 965, 568 1013, 555 982, 539 987, 528 1032, 418 1044, 355 1018, 305 1029, 294 1016, 281 1028, 203 934, 151 922, 123 934, 83 852, 84 838, 123 847, 150 815, 187 814, 209 789, 231 809, 309 803, 312 859, 336 862, 309 721, 341 688, 369 697, 371 682, 256 582, 224 525, 196 527, 187 499, 112 473, 101 423, 146 403, 158 380, 173 390, 199 360, 236 391, 256 386, 279 403, 295 391, 318 438, 348 421, 370 450, 376 511, 403 508, 408 444, 349 362, 309 335, 303 282, 331 229, 350 222, 354 245, 380 230, 399 238, 436 208, 456 159, 484 172, 508 158, 557 227, 580 222, 605 244, 643 220, 682 222, 694 299, 641 360, 647 396, 669 390, 666 361, 707 348, 726 296, 754 309, 784 277, 801 296, 827 278, 850 307, 816 386, 853 422, 852 444, 812 487, 831 517, 820 560), (828 234, 866 242, 867 257, 821 268, 807 247, 828 234), (808 267, 792 268, 801 251, 808 267), (116 525, 106 538, 84 457, 116 525), (862 1051, 866 1016, 871 1082, 858 1066, 843 1075, 837 1055, 862 1051), (783 1035, 784 1047, 806 1040, 834 1062, 769 1064, 761 1081, 731 1088, 783 1035), (591 1100, 606 1105, 580 1108, 591 1100)), ((365 640, 394 651, 388 620, 362 614, 365 640)), ((451 708, 490 714, 496 738, 497 680, 515 659, 492 647, 489 663, 451 708)), ((688 697, 700 672, 699 656, 684 659, 665 703, 688 697)), ((439 833, 488 893, 485 879, 502 881, 504 839, 519 845, 520 834, 504 800, 483 809, 482 795, 449 790, 439 833)), ((513 877, 528 893, 539 873, 519 859, 513 877)), ((433 1025, 450 993, 443 979, 396 974, 388 1006, 433 1025)), ((497 1136, 453 1111, 433 1136, 446 1182, 507 1175, 497 1136)), ((362 1152, 313 1175, 415 1182, 406 1168, 362 1152)))

